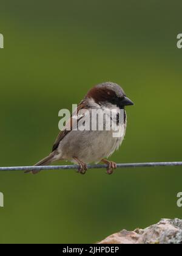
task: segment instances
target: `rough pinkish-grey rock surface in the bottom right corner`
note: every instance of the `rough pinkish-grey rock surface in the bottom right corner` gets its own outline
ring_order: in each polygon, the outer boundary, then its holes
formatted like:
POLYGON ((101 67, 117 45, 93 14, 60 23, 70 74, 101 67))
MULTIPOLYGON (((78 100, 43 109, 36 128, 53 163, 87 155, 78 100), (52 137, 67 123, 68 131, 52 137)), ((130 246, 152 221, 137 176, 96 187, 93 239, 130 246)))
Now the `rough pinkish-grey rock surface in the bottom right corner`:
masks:
POLYGON ((98 244, 182 244, 182 220, 161 219, 146 229, 122 230, 98 244))

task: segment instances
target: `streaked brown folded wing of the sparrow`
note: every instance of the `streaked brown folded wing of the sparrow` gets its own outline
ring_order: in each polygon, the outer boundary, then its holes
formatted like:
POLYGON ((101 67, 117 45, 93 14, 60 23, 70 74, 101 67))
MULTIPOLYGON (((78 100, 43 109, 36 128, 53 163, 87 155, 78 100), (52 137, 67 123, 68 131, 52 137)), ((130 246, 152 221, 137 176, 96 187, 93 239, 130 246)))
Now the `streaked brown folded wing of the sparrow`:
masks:
MULTIPOLYGON (((75 110, 75 112, 73 113, 72 116, 76 115, 76 112, 77 112, 77 114, 78 114, 79 110, 81 110, 82 108, 84 108, 84 109, 87 108, 87 106, 85 105, 84 101, 82 101, 82 102, 78 105, 77 109, 75 110)), ((72 118, 72 116, 71 116, 70 119, 67 121, 66 126, 64 127, 64 129, 61 130, 61 132, 59 132, 59 135, 58 135, 58 137, 56 138, 55 144, 53 145, 52 152, 55 151, 55 150, 58 148, 60 141, 61 141, 64 137, 66 137, 66 135, 72 130, 72 127, 77 126, 78 121, 81 119, 81 118, 79 118, 79 119, 74 119, 74 118, 72 118), (76 122, 76 123, 75 123, 75 122, 76 122), (70 129, 68 130, 67 127, 70 127, 70 129)))

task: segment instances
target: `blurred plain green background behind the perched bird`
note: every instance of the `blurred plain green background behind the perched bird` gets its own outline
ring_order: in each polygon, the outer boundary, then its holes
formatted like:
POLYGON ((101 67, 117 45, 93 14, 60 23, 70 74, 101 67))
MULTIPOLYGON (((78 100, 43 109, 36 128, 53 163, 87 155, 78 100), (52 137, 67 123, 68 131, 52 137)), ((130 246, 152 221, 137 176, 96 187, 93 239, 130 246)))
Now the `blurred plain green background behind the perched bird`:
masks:
MULTIPOLYGON (((180 0, 2 0, 0 165, 49 154, 59 110, 108 80, 135 102, 112 160, 181 161, 181 8, 180 0)), ((95 243, 182 218, 181 180, 181 167, 1 172, 0 243, 95 243)))

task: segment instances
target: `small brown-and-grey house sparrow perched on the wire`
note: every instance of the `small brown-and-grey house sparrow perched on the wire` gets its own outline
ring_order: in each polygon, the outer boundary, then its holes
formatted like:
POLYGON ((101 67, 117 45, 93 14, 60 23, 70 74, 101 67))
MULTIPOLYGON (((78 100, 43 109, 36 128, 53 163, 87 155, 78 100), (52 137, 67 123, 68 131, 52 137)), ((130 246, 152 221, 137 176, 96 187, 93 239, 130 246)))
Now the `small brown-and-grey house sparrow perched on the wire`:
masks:
MULTIPOLYGON (((104 157, 107 158, 112 155, 113 152, 120 147, 124 139, 127 125, 127 116, 124 110, 126 105, 133 105, 133 102, 126 97, 120 85, 113 82, 106 82, 93 87, 78 105, 72 117, 67 121, 66 127, 59 133, 53 145, 52 153, 36 163, 35 166, 49 165, 57 160, 69 160, 70 162, 78 164, 79 173, 85 174, 87 163, 103 162, 107 165, 107 173, 112 174, 113 169, 116 169, 116 163, 104 157), (75 115, 79 113, 80 110, 91 112, 93 109, 116 109, 117 113, 123 110, 123 124, 116 119, 112 120, 118 128, 121 128, 123 125, 123 135, 121 137, 113 137, 113 130, 74 130, 73 126, 78 124, 78 120, 80 121, 84 114, 78 116, 77 119, 75 115), (68 124, 70 124, 70 129, 67 129, 68 124)), ((105 125, 106 122, 107 119, 105 125)), ((39 171, 32 170, 31 172, 36 174, 39 171)))

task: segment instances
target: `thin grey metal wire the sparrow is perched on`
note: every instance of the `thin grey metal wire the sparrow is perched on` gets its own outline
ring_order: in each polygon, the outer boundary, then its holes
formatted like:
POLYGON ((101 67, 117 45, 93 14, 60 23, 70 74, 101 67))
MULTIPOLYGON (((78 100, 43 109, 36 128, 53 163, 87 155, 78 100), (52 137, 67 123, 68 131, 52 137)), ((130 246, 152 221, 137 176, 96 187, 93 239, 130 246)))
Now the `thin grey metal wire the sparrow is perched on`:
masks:
MULTIPOLYGON (((155 166, 182 166, 182 162, 155 162, 155 163, 117 163, 117 168, 155 167, 155 166)), ((88 165, 88 169, 107 168, 107 165, 88 165)), ((78 165, 55 166, 12 166, 0 167, 0 171, 32 171, 33 170, 58 170, 78 169, 78 165)))

